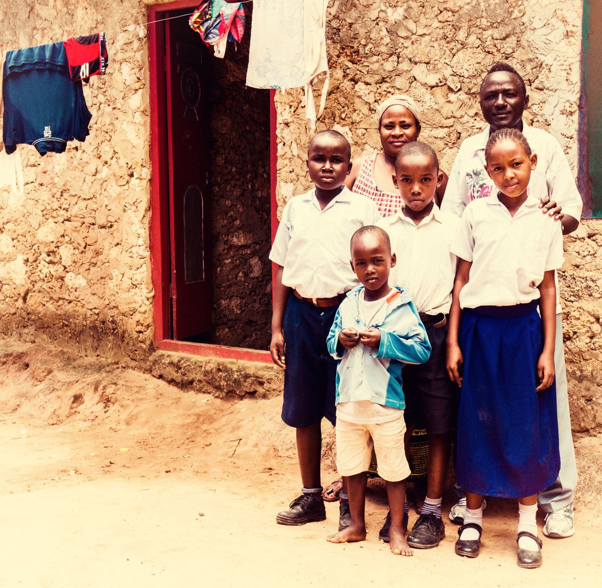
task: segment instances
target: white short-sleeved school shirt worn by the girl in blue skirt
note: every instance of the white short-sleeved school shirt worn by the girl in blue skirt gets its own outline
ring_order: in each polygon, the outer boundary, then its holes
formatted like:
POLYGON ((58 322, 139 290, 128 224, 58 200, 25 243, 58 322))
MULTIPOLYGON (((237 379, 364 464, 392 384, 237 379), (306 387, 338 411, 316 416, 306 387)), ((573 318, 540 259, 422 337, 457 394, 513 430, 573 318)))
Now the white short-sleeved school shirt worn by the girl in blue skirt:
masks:
POLYGON ((541 213, 535 196, 528 196, 514 216, 497 193, 471 202, 462 214, 452 252, 473 262, 460 293, 461 308, 536 300, 544 272, 564 261, 560 223, 541 213))

